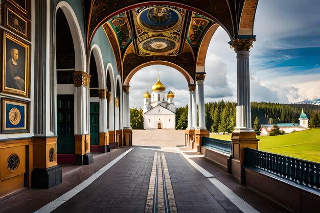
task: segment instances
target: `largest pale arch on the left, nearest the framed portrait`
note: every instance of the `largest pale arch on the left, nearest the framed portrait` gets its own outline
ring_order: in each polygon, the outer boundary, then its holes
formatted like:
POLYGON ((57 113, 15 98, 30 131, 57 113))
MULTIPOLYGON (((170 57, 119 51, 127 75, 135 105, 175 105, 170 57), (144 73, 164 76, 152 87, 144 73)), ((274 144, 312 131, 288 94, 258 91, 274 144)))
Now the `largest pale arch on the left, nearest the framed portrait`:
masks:
POLYGON ((77 20, 77 16, 73 11, 72 7, 66 2, 59 2, 57 4, 55 14, 57 14, 57 10, 59 8, 64 13, 64 16, 66 17, 72 34, 72 40, 75 48, 75 70, 86 72, 87 62, 85 54, 85 45, 82 38, 80 25, 77 20))

